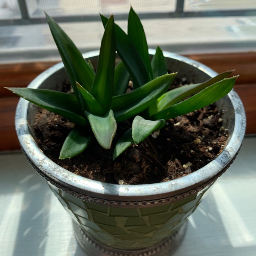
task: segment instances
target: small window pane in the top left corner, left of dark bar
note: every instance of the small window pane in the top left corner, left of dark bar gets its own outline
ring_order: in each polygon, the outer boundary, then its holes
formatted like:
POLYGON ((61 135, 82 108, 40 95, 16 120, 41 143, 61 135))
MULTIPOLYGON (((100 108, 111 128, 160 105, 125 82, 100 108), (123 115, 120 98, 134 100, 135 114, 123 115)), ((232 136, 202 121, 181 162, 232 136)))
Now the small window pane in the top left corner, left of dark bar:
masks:
POLYGON ((0 0, 0 19, 21 18, 17 0, 0 0))

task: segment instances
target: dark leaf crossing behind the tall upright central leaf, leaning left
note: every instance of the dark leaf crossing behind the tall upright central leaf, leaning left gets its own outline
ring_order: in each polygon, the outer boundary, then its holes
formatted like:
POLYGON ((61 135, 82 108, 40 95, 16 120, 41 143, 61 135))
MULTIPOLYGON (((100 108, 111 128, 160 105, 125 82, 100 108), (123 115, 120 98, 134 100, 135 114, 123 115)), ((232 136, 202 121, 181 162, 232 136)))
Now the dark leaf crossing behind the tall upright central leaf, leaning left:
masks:
MULTIPOLYGON (((101 20, 105 27, 108 18, 101 15, 101 20)), ((117 53, 132 77, 134 88, 138 88, 148 82, 147 68, 128 35, 116 24, 115 32, 117 53)))

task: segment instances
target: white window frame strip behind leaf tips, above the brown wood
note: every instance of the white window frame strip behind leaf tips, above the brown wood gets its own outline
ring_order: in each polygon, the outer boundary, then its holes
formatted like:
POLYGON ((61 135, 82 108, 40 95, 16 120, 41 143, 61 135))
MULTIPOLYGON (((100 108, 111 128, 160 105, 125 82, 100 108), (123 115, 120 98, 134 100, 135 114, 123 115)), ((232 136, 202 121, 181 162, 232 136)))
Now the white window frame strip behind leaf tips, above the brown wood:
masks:
MULTIPOLYGON (((127 22, 117 20, 126 30, 127 22)), ((256 17, 143 19, 148 45, 178 54, 248 52, 256 50, 256 17)), ((61 23, 80 48, 100 47, 101 22, 61 23)), ((0 27, 2 63, 60 60, 47 24, 0 27)))

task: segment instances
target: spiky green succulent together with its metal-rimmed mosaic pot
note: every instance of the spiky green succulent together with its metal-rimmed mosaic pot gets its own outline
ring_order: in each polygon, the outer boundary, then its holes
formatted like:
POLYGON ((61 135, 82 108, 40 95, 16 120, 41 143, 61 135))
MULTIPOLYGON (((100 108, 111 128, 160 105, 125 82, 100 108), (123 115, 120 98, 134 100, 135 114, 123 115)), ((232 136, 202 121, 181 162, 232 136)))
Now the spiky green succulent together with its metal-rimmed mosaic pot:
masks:
MULTIPOLYGON (((245 115, 239 97, 232 90, 237 77, 225 79, 230 71, 216 74, 196 61, 163 53, 159 47, 148 51, 143 27, 132 8, 128 34, 114 23, 113 16, 109 19, 101 16, 105 32, 100 51, 84 56, 54 20, 48 15, 47 19, 63 63, 43 72, 28 88, 9 88, 34 103, 20 99, 16 111, 16 130, 27 159, 72 216, 77 240, 88 255, 170 254, 182 241, 186 219, 205 191, 230 166, 241 146, 245 115), (167 73, 175 69, 178 73, 167 73), (175 76, 193 84, 169 90, 175 76), (67 77, 73 93, 61 91, 67 77), (129 185, 112 173, 114 184, 104 179, 88 179, 60 166, 64 161, 61 159, 76 159, 84 152, 89 159, 100 152, 99 168, 90 169, 92 173, 101 175, 104 168, 100 167, 105 166, 105 161, 111 162, 113 168, 130 165, 125 170, 128 175, 145 173, 148 164, 141 171, 134 162, 127 164, 119 159, 124 159, 125 154, 128 159, 126 152, 130 150, 136 162, 140 158, 136 155, 139 145, 145 140, 150 143, 148 137, 152 135, 157 140, 159 130, 161 134, 167 129, 170 118, 197 111, 215 101, 218 111, 223 110, 222 117, 215 114, 227 141, 212 161, 196 171, 185 173, 191 169, 191 162, 182 163, 184 173, 179 170, 178 179, 171 176, 162 182, 129 185), (48 152, 47 146, 38 146, 40 139, 35 130, 41 109, 35 105, 67 118, 65 122, 60 120, 70 132, 57 152, 56 162, 44 154, 48 152), (115 160, 109 158, 110 152, 115 160)), ((44 124, 48 122, 49 119, 44 124)), ((168 130, 179 126, 178 123, 169 123, 168 130)), ((196 132, 195 136, 193 142, 198 147, 204 138, 196 132)), ((166 141, 172 139, 167 137, 166 141)), ((151 155, 152 163, 154 159, 158 161, 151 155)), ((80 165, 71 160, 68 161, 72 168, 80 165)), ((153 172, 146 175, 155 179, 158 173, 155 174, 156 169, 153 172)))

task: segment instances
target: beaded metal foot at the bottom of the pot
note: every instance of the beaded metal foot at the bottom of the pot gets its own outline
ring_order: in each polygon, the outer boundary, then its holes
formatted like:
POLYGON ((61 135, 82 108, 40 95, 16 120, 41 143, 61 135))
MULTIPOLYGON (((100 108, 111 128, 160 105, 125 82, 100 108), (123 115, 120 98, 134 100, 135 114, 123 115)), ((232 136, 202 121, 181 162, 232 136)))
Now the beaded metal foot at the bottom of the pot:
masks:
POLYGON ((97 240, 90 237, 86 231, 81 229, 79 224, 73 221, 74 233, 77 242, 87 253, 86 256, 162 256, 171 255, 181 244, 186 228, 187 222, 178 228, 171 236, 142 250, 120 250, 113 247, 106 246, 99 243, 97 240))

